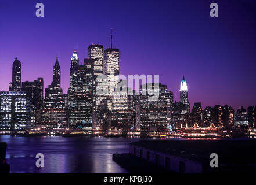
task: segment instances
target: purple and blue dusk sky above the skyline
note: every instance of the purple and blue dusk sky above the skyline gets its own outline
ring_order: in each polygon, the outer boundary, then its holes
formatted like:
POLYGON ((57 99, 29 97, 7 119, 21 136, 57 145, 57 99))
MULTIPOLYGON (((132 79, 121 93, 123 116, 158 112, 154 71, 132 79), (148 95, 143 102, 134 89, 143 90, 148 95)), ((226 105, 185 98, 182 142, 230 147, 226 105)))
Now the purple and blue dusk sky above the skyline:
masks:
POLYGON ((1 0, 0 91, 9 90, 15 57, 22 81, 44 77, 48 86, 57 53, 67 93, 75 42, 82 62, 91 43, 110 47, 111 28, 121 74, 159 74, 176 101, 185 75, 191 107, 256 105, 255 0, 1 0), (45 17, 35 16, 39 2, 45 17))

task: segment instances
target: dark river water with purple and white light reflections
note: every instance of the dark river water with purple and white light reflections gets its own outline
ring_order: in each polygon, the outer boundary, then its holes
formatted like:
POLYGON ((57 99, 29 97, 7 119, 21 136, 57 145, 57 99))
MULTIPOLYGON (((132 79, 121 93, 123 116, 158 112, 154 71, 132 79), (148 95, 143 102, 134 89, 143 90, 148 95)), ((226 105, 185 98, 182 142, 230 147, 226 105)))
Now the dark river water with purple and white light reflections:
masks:
POLYGON ((128 173, 112 161, 112 154, 127 153, 128 143, 138 140, 142 139, 0 136, 8 145, 11 173, 128 173), (44 168, 35 166, 37 153, 44 154, 44 168))

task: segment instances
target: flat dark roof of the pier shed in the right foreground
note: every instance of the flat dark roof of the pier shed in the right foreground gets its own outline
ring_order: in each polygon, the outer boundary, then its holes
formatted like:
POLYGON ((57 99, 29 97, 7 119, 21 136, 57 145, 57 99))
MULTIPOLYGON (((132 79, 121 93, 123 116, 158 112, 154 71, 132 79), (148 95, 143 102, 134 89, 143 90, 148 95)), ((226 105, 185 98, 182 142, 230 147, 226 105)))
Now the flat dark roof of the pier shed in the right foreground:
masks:
POLYGON ((256 162, 256 140, 148 140, 130 143, 161 153, 210 162, 210 154, 218 154, 221 163, 256 162))

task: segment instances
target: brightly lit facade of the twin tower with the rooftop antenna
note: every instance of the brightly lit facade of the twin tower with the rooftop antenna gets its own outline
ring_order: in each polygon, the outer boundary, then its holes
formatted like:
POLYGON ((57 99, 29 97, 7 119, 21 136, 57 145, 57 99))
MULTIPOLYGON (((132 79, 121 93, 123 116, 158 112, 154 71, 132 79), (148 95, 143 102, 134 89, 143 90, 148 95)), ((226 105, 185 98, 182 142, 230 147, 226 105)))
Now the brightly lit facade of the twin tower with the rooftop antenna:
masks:
POLYGON ((107 107, 112 109, 112 94, 119 82, 119 49, 104 50, 104 75, 107 75, 107 107))

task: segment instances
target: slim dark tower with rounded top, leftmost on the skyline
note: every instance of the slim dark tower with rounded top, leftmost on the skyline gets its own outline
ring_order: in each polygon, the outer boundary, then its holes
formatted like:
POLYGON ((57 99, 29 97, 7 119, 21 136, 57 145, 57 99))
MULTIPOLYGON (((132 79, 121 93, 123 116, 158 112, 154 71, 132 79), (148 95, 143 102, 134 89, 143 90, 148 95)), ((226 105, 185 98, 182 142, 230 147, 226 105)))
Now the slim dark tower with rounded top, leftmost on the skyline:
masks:
POLYGON ((9 91, 20 91, 20 90, 21 90, 21 64, 16 57, 12 65, 12 82, 9 84, 9 91))

